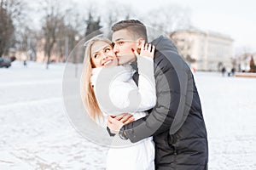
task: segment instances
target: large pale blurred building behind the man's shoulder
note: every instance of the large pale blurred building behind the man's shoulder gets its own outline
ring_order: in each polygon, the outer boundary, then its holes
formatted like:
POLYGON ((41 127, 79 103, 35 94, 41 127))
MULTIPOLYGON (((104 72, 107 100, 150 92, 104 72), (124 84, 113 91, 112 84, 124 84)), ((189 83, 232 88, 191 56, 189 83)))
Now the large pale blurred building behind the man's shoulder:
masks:
POLYGON ((170 34, 180 54, 191 67, 201 71, 219 71, 232 67, 233 39, 212 31, 186 30, 170 34))

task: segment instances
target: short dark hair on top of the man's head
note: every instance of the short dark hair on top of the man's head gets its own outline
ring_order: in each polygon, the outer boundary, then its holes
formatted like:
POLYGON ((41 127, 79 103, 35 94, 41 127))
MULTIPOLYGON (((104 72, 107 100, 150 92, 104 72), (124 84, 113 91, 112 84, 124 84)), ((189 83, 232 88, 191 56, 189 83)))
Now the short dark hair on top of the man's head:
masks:
POLYGON ((148 42, 146 26, 139 20, 121 20, 112 26, 112 31, 127 30, 135 38, 143 37, 148 42))

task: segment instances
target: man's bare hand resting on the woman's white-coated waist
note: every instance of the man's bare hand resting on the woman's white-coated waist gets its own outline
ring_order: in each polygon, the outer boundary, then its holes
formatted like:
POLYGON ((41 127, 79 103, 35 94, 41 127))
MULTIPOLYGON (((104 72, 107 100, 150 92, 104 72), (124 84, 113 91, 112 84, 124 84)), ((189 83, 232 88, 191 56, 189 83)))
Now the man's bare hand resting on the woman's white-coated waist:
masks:
POLYGON ((134 116, 128 113, 123 113, 119 116, 108 116, 108 128, 111 130, 111 133, 116 134, 119 133, 121 127, 134 120, 134 116))

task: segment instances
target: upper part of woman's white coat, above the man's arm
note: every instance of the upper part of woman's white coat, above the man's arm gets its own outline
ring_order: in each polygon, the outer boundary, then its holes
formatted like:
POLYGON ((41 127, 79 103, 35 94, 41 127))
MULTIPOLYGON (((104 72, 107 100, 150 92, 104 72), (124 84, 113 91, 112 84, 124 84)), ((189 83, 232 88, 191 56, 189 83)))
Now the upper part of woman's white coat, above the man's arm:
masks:
POLYGON ((137 58, 138 86, 132 79, 135 71, 131 65, 100 67, 92 71, 91 84, 102 112, 117 116, 130 113, 136 119, 156 103, 154 61, 148 57, 137 58), (137 114, 134 114, 134 113, 137 114))

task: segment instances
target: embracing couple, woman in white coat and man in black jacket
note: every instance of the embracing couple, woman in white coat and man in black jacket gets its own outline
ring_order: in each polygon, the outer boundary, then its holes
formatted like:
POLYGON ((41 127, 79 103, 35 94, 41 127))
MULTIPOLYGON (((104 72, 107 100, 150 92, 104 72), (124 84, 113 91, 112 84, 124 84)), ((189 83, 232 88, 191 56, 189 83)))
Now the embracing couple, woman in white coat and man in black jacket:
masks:
POLYGON ((112 41, 87 43, 83 77, 89 115, 131 143, 108 150, 107 169, 207 169, 201 101, 177 48, 163 36, 148 42, 139 20, 119 21, 112 31, 112 41))

